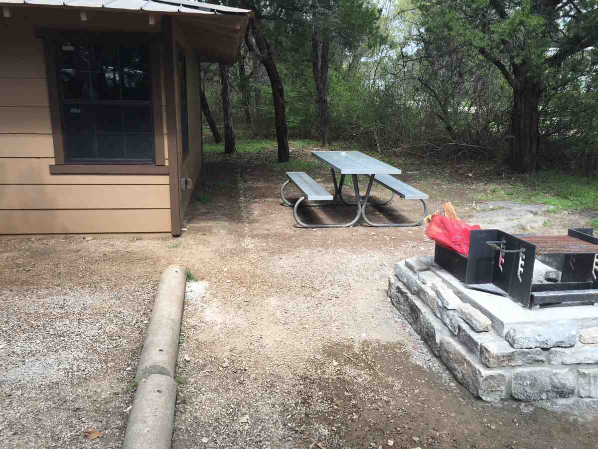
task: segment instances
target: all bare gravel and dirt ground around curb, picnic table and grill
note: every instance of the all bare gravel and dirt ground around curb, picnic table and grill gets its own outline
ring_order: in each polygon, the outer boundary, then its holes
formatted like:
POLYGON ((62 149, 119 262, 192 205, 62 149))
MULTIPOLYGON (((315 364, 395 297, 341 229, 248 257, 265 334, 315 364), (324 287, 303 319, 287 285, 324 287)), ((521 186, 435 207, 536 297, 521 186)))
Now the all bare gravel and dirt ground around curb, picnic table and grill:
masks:
MULTIPOLYGON (((432 254, 423 228, 298 229, 277 198, 285 168, 273 168, 271 154, 206 154, 178 239, 2 239, 0 447, 120 447, 145 321, 170 263, 197 277, 173 448, 598 447, 591 416, 485 404, 454 383, 385 294, 393 263, 432 254), (103 437, 84 439, 88 429, 103 437)), ((293 157, 310 158, 295 148, 293 157)), ((431 210, 451 200, 465 217, 489 178, 471 166, 409 168, 405 181, 429 193, 431 210)), ((419 213, 392 204, 368 216, 419 213)), ((542 232, 587 221, 551 214, 542 232)))

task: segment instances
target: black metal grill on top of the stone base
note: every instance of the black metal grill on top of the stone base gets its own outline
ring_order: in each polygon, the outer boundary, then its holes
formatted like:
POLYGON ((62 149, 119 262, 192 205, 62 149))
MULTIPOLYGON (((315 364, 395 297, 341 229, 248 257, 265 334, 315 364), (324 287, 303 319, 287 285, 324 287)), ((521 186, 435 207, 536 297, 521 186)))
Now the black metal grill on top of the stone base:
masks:
POLYGON ((523 307, 598 302, 598 238, 591 228, 546 236, 472 230, 468 257, 437 244, 434 261, 466 287, 508 296, 523 307), (563 256, 559 283, 533 283, 536 256, 544 254, 563 256))

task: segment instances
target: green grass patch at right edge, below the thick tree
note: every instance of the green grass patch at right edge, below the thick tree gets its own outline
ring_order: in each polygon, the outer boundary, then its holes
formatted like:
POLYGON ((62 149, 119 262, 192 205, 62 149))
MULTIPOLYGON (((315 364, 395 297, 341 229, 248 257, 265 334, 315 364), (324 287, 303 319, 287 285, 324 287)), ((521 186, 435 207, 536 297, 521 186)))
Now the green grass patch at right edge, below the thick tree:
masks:
POLYGON ((552 206, 551 212, 598 210, 598 178, 542 172, 510 184, 494 184, 483 199, 546 204, 552 206))

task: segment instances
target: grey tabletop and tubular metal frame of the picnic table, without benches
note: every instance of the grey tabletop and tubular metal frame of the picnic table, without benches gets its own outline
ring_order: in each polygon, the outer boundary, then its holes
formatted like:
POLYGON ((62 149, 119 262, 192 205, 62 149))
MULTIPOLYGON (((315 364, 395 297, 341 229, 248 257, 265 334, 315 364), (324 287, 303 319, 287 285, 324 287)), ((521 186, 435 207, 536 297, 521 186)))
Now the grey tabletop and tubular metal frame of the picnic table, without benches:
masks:
POLYGON ((367 225, 373 227, 406 227, 406 226, 418 226, 422 223, 423 217, 426 216, 428 207, 426 206, 426 202, 423 200, 423 208, 424 208, 424 215, 421 220, 414 223, 373 223, 371 222, 365 214, 365 209, 368 204, 372 205, 386 205, 389 204, 390 201, 395 197, 395 192, 392 192, 390 198, 386 201, 380 202, 371 202, 370 201, 370 194, 371 188, 374 183, 374 177, 379 174, 401 174, 401 169, 395 168, 391 165, 388 165, 385 162, 375 159, 374 157, 368 156, 367 154, 361 153, 361 151, 312 151, 313 156, 317 157, 318 159, 322 160, 322 162, 327 163, 331 166, 330 172, 332 176, 332 183, 334 183, 334 197, 331 201, 328 202, 317 202, 317 203, 307 203, 304 196, 301 196, 297 201, 294 203, 289 202, 288 199, 285 197, 285 187, 291 182, 290 180, 285 181, 280 187, 280 199, 282 200, 282 204, 288 207, 293 208, 293 216, 295 221, 298 225, 308 228, 313 227, 347 227, 353 226, 361 217, 364 219, 364 222, 367 225), (368 166, 369 164, 369 166, 368 166), (340 173, 340 180, 337 180, 337 174, 335 171, 340 173), (355 189, 355 202, 347 201, 343 197, 343 185, 347 175, 351 175, 353 180, 353 188, 355 189), (359 180, 358 175, 367 175, 368 176, 368 186, 365 191, 365 196, 361 196, 359 192, 359 180), (347 206, 355 206, 357 208, 357 213, 355 218, 353 218, 348 223, 331 223, 331 224, 317 224, 312 225, 309 223, 304 223, 298 216, 297 210, 300 204, 303 204, 307 207, 321 207, 321 206, 330 206, 330 205, 338 205, 342 203, 347 206))

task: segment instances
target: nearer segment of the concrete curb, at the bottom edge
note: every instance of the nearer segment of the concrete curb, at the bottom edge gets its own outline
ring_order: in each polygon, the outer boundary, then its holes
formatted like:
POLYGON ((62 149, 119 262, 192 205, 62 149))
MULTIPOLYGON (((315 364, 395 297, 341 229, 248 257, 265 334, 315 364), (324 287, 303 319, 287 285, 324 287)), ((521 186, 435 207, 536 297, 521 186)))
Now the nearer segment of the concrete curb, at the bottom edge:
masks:
POLYGON ((176 383, 161 374, 141 381, 124 434, 123 449, 170 449, 175 421, 176 383))

